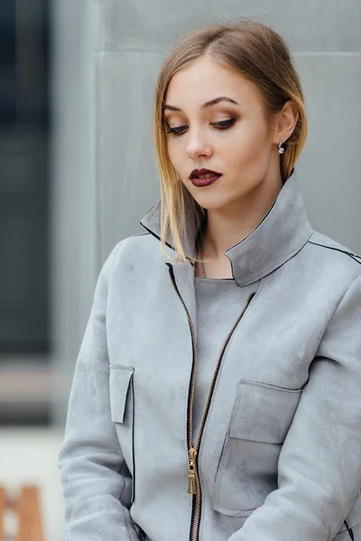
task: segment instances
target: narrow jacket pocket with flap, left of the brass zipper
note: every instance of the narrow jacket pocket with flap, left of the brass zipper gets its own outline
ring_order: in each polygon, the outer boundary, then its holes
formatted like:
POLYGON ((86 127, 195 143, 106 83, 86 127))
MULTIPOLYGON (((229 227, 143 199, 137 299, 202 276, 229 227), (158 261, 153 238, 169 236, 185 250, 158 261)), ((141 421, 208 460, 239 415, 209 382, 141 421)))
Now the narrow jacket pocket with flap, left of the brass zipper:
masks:
POLYGON ((116 435, 125 457, 125 467, 122 467, 122 470, 125 478, 129 475, 132 478, 131 502, 135 497, 133 378, 132 366, 109 365, 110 416, 116 424, 116 435))

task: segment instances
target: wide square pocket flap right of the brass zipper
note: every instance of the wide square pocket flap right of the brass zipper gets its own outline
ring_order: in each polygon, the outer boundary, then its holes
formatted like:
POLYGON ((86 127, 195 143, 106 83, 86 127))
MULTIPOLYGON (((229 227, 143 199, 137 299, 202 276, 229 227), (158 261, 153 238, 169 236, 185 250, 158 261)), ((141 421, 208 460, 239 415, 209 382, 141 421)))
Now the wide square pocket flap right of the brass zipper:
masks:
POLYGON ((301 389, 241 380, 238 384, 230 437, 282 444, 292 424, 301 389))

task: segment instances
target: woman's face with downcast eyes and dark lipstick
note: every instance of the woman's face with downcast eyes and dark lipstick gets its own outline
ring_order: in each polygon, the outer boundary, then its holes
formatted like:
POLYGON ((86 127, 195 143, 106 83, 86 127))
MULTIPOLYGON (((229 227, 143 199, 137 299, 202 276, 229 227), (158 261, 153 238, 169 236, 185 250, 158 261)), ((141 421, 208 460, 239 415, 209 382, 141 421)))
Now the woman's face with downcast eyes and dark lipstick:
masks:
POLYGON ((195 60, 171 78, 163 116, 171 163, 200 206, 237 206, 275 175, 281 182, 274 128, 258 88, 211 57, 195 60), (220 96, 227 100, 217 100, 220 96), (194 186, 190 173, 195 169, 221 176, 194 186))

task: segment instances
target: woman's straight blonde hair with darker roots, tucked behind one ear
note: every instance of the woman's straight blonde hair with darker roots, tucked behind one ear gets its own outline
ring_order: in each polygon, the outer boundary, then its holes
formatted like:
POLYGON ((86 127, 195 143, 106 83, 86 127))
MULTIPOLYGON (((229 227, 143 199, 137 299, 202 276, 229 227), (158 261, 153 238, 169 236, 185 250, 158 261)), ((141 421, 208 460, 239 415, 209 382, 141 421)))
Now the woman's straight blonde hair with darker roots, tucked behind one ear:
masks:
POLYGON ((163 62, 153 102, 153 139, 161 179, 161 243, 162 252, 170 261, 185 262, 187 258, 199 261, 186 253, 181 243, 187 225, 185 209, 187 206, 194 212, 197 226, 206 211, 190 196, 171 164, 163 105, 172 76, 206 54, 255 83, 264 97, 264 112, 269 119, 282 110, 286 101, 292 100, 297 105, 298 120, 281 155, 283 182, 291 175, 307 135, 300 78, 292 64, 290 50, 277 32, 263 23, 242 18, 236 23, 208 24, 183 37, 163 62), (177 253, 173 260, 165 248, 168 235, 177 253))

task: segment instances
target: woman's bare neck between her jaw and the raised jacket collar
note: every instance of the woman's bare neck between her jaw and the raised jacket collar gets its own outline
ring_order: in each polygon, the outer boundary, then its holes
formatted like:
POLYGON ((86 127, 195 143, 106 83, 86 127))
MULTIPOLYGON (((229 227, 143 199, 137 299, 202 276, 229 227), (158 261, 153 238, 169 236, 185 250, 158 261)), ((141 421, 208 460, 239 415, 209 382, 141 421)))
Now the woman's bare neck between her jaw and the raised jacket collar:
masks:
POLYGON ((232 205, 208 209, 203 232, 205 259, 222 260, 225 252, 252 233, 273 206, 282 189, 281 177, 270 186, 262 182, 252 192, 232 205))

